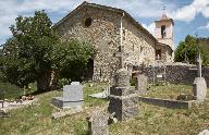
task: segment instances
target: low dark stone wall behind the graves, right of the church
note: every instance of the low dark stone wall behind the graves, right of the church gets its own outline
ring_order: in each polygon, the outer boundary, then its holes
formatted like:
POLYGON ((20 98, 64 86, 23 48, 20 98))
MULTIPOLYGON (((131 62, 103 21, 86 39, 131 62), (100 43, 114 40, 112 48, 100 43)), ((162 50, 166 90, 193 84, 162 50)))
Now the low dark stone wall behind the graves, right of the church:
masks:
MULTIPOLYGON (((135 68, 134 70, 143 70, 148 76, 149 83, 157 83, 160 79, 174 84, 193 84, 197 77, 197 69, 195 65, 188 64, 167 64, 147 68, 135 68)), ((209 66, 202 66, 202 77, 209 86, 209 66)))

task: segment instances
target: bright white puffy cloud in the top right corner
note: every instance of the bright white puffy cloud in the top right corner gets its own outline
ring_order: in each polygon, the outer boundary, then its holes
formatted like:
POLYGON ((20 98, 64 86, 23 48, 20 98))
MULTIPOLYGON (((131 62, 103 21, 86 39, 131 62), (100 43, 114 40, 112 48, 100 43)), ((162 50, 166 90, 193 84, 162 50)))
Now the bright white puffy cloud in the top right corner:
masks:
POLYGON ((209 17, 209 0, 194 0, 189 5, 177 9, 171 15, 174 20, 190 22, 198 13, 209 17))

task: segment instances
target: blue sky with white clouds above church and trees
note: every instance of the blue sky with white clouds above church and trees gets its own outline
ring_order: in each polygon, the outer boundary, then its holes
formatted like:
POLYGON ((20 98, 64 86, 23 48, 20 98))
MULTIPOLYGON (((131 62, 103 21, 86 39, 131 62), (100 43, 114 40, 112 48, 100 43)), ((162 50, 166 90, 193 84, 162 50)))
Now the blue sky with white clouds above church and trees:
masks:
MULTIPOLYGON (((174 42, 177 47, 187 35, 209 37, 209 0, 86 0, 119 8, 130 13, 138 23, 155 34, 155 21, 165 13, 174 20, 174 42)), ((32 16, 37 10, 45 10, 57 23, 84 0, 0 0, 0 45, 12 35, 9 27, 19 15, 32 16)))

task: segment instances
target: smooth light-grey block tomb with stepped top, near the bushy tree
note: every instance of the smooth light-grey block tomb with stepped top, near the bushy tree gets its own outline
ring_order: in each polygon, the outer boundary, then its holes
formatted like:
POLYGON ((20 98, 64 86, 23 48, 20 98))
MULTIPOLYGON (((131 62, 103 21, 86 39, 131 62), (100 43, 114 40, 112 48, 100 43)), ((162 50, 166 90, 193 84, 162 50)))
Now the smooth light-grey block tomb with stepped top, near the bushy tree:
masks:
POLYGON ((83 86, 79 82, 72 82, 71 85, 63 87, 63 97, 53 97, 52 105, 65 109, 72 107, 82 107, 83 99, 83 86))

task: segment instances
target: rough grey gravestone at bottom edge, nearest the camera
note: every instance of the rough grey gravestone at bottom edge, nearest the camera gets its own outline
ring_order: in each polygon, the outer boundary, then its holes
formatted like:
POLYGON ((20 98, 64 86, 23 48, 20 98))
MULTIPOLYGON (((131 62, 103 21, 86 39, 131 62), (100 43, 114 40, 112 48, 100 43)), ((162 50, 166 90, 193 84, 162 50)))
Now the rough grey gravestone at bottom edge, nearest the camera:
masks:
POLYGON ((95 111, 88 118, 89 135, 109 135, 108 115, 103 111, 95 111))

